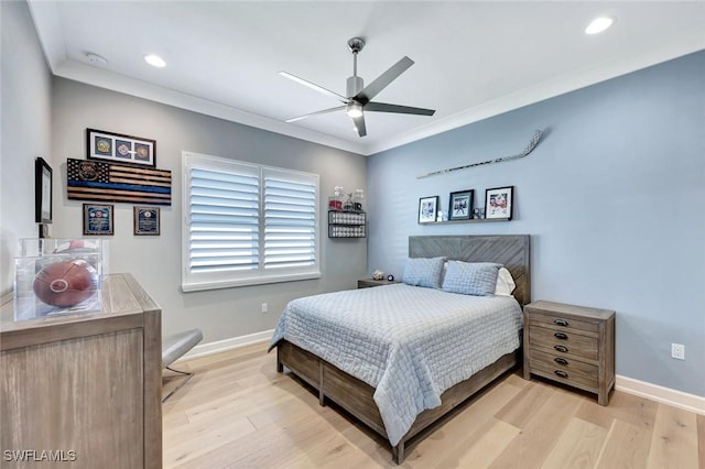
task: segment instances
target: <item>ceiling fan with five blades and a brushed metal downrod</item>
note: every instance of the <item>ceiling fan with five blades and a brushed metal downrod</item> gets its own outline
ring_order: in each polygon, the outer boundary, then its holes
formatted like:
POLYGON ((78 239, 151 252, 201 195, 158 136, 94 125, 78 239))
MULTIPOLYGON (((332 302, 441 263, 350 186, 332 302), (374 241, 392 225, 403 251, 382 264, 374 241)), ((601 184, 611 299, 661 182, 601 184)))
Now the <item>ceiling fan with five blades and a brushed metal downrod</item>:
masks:
POLYGON ((364 86, 361 77, 357 76, 357 54, 365 47, 365 40, 361 37, 352 37, 348 41, 348 47, 352 52, 352 76, 347 80, 347 97, 330 91, 314 83, 300 78, 288 72, 280 72, 279 74, 285 78, 292 79, 301 85, 307 86, 318 92, 326 96, 330 96, 343 102, 343 106, 337 106, 330 109, 324 109, 322 111, 311 112, 304 116, 288 119, 286 122, 295 122, 297 120, 306 119, 312 116, 325 114, 328 112, 335 112, 345 109, 345 112, 355 122, 355 129, 358 135, 367 135, 367 129, 365 128, 365 111, 372 112, 395 112, 402 114, 416 114, 416 116, 433 116, 434 109, 412 108, 409 106, 388 105, 386 102, 372 101, 372 98, 377 96, 382 89, 384 89, 390 83, 395 80, 406 68, 414 64, 414 61, 404 56, 401 61, 392 65, 387 72, 377 77, 372 83, 364 86))

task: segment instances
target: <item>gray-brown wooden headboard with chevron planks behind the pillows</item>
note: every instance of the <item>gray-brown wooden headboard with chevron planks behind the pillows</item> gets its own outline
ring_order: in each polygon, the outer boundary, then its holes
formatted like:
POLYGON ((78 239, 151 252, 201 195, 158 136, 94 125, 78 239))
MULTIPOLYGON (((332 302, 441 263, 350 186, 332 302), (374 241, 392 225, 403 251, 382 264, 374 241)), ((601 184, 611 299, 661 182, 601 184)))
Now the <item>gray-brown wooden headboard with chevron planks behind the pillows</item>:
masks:
POLYGON ((520 305, 531 302, 529 234, 497 236, 411 236, 410 258, 446 257, 464 262, 497 262, 511 272, 520 305))

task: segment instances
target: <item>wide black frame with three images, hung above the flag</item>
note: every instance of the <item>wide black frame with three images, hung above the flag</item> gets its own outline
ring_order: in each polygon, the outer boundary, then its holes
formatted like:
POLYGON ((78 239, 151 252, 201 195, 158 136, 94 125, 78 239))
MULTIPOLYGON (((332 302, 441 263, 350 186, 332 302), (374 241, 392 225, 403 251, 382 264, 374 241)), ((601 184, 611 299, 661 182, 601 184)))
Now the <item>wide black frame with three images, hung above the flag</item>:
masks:
POLYGON ((86 129, 88 160, 109 160, 137 166, 156 166, 156 141, 141 137, 86 129))

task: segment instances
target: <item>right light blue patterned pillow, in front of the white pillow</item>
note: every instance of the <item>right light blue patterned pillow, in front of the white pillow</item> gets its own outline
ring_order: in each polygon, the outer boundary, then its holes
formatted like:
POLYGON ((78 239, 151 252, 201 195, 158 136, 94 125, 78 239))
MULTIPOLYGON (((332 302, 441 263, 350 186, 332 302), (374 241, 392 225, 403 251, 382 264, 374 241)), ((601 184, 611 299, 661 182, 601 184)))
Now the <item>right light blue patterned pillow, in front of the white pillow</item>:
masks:
POLYGON ((501 266, 492 262, 448 261, 443 290, 463 295, 491 296, 501 266))

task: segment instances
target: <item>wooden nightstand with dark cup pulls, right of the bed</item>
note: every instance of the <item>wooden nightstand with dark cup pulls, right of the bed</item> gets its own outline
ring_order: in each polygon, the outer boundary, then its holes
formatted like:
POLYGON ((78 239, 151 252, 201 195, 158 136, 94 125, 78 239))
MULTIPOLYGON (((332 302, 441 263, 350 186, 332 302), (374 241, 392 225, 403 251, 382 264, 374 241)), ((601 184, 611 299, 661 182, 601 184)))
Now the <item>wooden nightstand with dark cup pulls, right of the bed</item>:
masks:
POLYGON ((597 394, 615 386, 615 312, 552 302, 524 306, 524 379, 536 374, 597 394))

